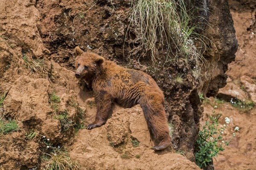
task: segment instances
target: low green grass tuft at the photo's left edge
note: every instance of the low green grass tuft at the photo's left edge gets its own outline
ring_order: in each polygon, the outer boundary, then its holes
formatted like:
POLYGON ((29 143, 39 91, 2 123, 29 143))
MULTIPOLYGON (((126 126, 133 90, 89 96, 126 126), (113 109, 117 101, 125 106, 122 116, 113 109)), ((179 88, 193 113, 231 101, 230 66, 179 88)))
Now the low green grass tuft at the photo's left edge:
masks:
POLYGON ((16 132, 20 129, 15 120, 8 119, 8 121, 4 118, 0 119, 0 133, 12 133, 16 132))

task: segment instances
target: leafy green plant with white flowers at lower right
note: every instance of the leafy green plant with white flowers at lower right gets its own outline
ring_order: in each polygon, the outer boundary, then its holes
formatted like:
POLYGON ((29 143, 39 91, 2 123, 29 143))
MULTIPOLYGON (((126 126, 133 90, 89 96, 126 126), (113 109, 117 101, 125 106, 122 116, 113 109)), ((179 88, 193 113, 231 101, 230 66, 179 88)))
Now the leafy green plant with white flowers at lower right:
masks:
MULTIPOLYGON (((215 113, 215 111, 213 112, 215 113)), ((198 139, 195 143, 195 160, 200 168, 206 168, 212 162, 212 157, 217 156, 220 151, 223 151, 224 147, 228 146, 239 130, 239 127, 236 127, 233 136, 225 141, 223 139, 223 132, 228 127, 230 119, 226 117, 223 127, 218 128, 219 118, 220 116, 210 116, 210 121, 207 121, 198 133, 198 139)))

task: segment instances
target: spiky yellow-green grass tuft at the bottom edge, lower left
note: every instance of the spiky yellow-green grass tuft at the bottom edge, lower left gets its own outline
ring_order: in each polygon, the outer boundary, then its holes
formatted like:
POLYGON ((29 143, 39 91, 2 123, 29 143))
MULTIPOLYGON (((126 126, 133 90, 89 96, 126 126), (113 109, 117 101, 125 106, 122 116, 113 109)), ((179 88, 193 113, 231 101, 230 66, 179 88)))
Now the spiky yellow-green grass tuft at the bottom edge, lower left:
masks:
POLYGON ((70 159, 67 150, 57 148, 51 153, 44 153, 47 170, 80 170, 80 166, 76 161, 70 159))

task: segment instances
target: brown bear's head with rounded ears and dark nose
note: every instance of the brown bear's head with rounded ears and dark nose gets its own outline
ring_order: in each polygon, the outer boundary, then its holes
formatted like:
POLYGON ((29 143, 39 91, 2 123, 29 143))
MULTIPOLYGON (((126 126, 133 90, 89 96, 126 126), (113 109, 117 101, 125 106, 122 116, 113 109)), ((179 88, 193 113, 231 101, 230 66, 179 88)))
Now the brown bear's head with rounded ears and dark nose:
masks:
POLYGON ((76 78, 90 79, 102 69, 103 57, 91 52, 84 52, 79 47, 75 48, 76 53, 76 78))

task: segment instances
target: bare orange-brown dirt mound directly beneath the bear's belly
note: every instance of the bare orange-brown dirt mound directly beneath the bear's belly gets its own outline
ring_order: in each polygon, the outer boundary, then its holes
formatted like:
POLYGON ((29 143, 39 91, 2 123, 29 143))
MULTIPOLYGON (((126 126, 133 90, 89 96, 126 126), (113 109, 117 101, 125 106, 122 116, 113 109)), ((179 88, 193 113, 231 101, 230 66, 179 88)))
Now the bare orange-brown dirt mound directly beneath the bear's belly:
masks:
POLYGON ((102 127, 81 130, 70 147, 70 156, 82 169, 200 169, 180 154, 154 152, 152 146, 142 109, 137 105, 113 113, 102 127), (140 141, 139 146, 133 146, 134 138, 140 141))

